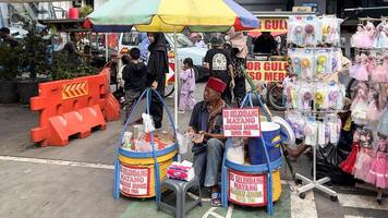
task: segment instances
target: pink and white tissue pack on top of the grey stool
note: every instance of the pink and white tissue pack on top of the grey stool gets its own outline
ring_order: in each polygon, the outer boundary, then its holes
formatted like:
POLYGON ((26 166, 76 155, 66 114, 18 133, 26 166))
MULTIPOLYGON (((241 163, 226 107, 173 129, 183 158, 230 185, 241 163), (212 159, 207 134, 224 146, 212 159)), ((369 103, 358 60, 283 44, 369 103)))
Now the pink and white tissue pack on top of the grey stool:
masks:
POLYGON ((193 164, 186 160, 183 162, 172 162, 167 168, 167 177, 173 180, 190 181, 195 177, 193 164))

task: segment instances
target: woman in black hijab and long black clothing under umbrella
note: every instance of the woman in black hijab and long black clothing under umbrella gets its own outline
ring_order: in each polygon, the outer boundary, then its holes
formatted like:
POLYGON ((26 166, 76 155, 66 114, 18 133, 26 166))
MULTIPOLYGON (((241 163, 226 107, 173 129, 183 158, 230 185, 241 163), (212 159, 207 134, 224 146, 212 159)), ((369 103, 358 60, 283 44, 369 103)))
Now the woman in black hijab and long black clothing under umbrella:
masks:
MULTIPOLYGON (((167 57, 167 41, 161 33, 148 33, 149 40, 149 58, 147 65, 147 83, 155 88, 161 96, 165 95, 166 73, 169 72, 169 63, 167 57)), ((149 112, 154 118, 155 128, 161 128, 163 118, 163 106, 161 101, 153 95, 149 112)))

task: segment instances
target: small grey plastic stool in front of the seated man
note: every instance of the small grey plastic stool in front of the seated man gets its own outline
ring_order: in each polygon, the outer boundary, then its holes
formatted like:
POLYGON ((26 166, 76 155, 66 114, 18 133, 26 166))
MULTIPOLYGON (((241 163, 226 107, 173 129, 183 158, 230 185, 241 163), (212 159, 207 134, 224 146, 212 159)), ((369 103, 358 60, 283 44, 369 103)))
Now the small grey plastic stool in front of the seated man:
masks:
POLYGON ((196 205, 202 206, 202 201, 201 201, 201 186, 199 186, 199 180, 195 177, 191 181, 180 181, 180 180, 171 180, 171 179, 166 179, 161 183, 161 190, 167 189, 170 191, 173 191, 175 193, 175 206, 171 206, 160 199, 160 203, 158 205, 158 210, 161 208, 166 208, 168 210, 171 210, 174 213, 175 218, 183 218, 185 214, 193 209, 196 205), (186 204, 186 194, 187 191, 191 187, 197 187, 199 191, 199 197, 195 201, 192 201, 186 204))

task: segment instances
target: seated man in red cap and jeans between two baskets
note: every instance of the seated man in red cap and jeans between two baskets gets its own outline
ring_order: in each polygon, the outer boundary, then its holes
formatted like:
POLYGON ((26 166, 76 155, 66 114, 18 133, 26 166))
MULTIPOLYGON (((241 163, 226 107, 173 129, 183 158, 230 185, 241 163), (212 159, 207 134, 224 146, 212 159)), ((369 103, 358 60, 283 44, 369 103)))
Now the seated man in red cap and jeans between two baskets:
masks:
POLYGON ((189 133, 193 140, 194 169, 201 184, 210 189, 211 205, 221 206, 218 191, 218 178, 222 162, 223 142, 222 109, 227 104, 221 94, 227 84, 210 77, 204 90, 204 100, 194 106, 189 123, 189 133))

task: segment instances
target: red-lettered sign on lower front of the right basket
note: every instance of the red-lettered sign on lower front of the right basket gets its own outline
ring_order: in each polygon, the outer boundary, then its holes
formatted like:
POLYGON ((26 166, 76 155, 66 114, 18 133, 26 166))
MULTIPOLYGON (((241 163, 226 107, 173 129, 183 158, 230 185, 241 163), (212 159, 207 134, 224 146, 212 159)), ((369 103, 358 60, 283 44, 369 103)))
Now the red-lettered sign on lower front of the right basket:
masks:
POLYGON ((247 206, 266 204, 265 174, 245 174, 229 170, 229 201, 247 206))

